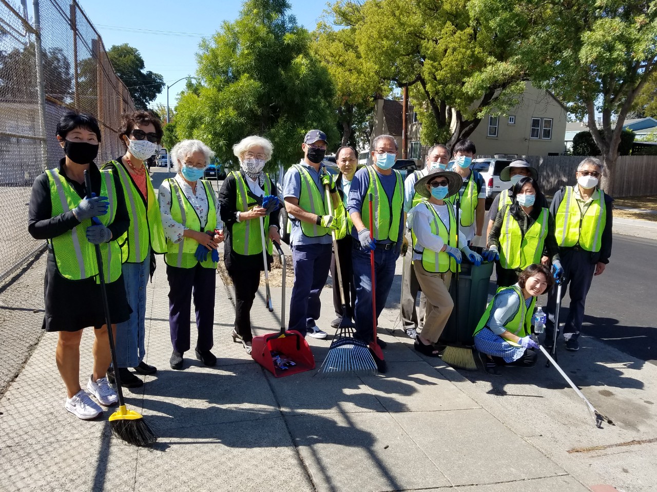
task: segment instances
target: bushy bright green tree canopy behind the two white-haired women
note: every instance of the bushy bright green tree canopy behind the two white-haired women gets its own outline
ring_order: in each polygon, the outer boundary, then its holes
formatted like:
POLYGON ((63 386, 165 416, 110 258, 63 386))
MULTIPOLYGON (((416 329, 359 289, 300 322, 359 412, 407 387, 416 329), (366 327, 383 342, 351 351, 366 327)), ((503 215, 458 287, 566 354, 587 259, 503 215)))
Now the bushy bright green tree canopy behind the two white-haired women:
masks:
POLYGON ((235 22, 202 41, 201 83, 188 84, 176 106, 179 138, 203 140, 227 162, 235 143, 259 134, 273 142, 271 163, 285 166, 302 156, 310 129, 338 146, 332 82, 289 9, 286 0, 248 0, 235 22))

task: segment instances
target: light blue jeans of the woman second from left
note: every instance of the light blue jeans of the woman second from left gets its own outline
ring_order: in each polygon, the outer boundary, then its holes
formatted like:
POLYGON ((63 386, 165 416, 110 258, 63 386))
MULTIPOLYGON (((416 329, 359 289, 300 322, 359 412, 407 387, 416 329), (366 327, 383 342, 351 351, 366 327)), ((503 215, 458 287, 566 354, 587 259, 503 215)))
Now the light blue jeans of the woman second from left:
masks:
POLYGON ((141 263, 121 266, 125 295, 132 308, 130 319, 116 325, 116 361, 119 367, 135 367, 146 355, 144 343, 146 318, 146 286, 150 272, 150 255, 141 263))

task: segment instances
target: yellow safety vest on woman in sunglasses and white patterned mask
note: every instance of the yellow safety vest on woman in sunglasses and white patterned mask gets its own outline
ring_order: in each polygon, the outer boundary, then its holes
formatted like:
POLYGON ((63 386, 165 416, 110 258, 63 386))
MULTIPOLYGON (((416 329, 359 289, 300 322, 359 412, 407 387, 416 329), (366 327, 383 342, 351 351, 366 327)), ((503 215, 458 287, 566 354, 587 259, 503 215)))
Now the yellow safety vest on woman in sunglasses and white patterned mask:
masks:
POLYGON ((166 238, 162 228, 162 218, 160 218, 160 206, 155 198, 150 177, 147 176, 146 179, 147 197, 146 203, 144 203, 141 192, 123 163, 120 160, 110 161, 102 169, 109 169, 110 164, 114 165, 121 180, 125 206, 130 216, 130 226, 120 239, 124 263, 143 262, 151 247, 155 253, 165 253, 166 238))

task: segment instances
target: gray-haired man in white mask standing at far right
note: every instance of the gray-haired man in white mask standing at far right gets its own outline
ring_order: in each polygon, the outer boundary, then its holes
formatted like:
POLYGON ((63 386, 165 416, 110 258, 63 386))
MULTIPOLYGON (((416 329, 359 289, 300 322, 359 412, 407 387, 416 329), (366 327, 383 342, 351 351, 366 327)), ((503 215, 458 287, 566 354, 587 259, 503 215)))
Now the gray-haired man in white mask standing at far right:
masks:
MULTIPOLYGON (((612 202, 599 189, 602 163, 587 157, 579 163, 576 186, 556 192, 550 207, 555 217, 555 236, 564 268, 561 296, 570 284, 570 310, 564 325, 567 350, 579 350, 579 332, 586 296, 594 276, 604 272, 612 254, 612 202)), ((543 258, 545 260, 545 257, 543 258)), ((547 300, 545 345, 552 348, 555 329, 556 287, 547 300)), ((558 331, 558 327, 556 327, 558 331)), ((558 335, 558 333, 557 333, 558 335)))

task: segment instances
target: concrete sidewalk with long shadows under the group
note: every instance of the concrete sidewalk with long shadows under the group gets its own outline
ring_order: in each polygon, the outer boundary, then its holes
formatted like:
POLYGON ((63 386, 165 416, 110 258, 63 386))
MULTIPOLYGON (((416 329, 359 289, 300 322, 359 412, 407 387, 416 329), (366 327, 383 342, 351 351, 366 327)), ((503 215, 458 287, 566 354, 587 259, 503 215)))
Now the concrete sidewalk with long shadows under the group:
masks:
MULTIPOLYGON (((147 361, 159 371, 144 388, 125 392, 158 443, 139 449, 118 441, 109 411, 94 422, 67 413, 57 337, 46 334, 0 400, 1 491, 576 492, 599 483, 649 491, 657 483, 657 367, 597 340, 583 338, 582 350, 561 351, 559 362, 616 420, 603 429, 542 361, 492 377, 419 356, 409 338, 392 331, 397 262, 380 320, 389 343, 384 376, 323 379, 315 369, 272 377, 230 338, 234 310, 219 276, 217 367, 202 366, 189 352, 186 369, 172 371, 168 283, 158 260, 148 285, 147 361), (645 442, 619 445, 632 440, 645 442)), ((274 314, 264 308, 263 291, 252 310, 260 334, 278 329, 281 312, 278 289, 274 314)), ((332 333, 330 288, 322 299, 321 327, 332 333)), ((83 337, 81 382, 92 340, 91 333, 83 337)), ((308 340, 319 368, 329 341, 308 340)))

